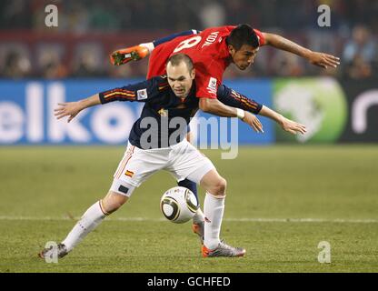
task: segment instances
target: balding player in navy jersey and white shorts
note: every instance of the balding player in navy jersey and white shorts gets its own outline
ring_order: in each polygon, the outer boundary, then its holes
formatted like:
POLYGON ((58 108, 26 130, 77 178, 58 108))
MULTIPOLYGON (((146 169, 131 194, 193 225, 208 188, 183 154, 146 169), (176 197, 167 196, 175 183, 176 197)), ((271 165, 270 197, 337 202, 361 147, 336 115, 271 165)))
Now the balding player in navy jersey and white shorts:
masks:
MULTIPOLYGON (((143 111, 131 129, 124 158, 114 173, 107 195, 85 211, 57 248, 45 248, 39 253, 40 257, 67 255, 105 216, 123 206, 136 187, 162 169, 169 171, 178 181, 187 178, 203 186, 206 191, 204 215, 207 223, 204 227, 202 255, 244 256, 244 248, 228 246, 219 238, 224 213, 225 179, 218 174, 213 163, 184 138, 186 126, 199 108, 194 64, 188 55, 173 55, 168 60, 166 72, 166 76, 155 76, 144 82, 107 90, 77 102, 59 104, 55 109, 58 119, 68 116, 70 122, 80 111, 90 106, 113 101, 144 102, 143 111), (167 126, 172 123, 174 126, 167 126), (151 127, 154 130, 151 131, 151 127)), ((230 91, 224 85, 219 86, 218 97, 229 100, 234 105, 239 101, 230 96, 230 91)), ((305 132, 303 125, 284 118, 264 105, 253 103, 260 114, 274 119, 284 130, 293 134, 305 132)), ((238 115, 237 111, 243 111, 243 121, 254 130, 262 131, 260 121, 250 112, 234 107, 230 107, 230 110, 233 117, 238 115)))

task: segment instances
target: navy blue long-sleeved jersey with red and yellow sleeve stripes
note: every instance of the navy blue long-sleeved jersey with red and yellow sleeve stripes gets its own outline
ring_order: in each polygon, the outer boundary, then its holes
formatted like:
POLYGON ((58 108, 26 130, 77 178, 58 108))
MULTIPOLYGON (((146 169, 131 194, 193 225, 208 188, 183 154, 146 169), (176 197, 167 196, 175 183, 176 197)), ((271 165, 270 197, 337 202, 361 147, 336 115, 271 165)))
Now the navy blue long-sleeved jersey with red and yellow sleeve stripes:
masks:
MULTIPOLYGON (((174 146, 188 132, 191 118, 198 110, 195 82, 186 98, 174 95, 164 75, 140 83, 99 93, 102 104, 113 101, 144 102, 140 117, 130 131, 129 142, 142 149, 174 146)), ((262 105, 225 85, 218 86, 217 98, 225 105, 258 114, 262 105)))

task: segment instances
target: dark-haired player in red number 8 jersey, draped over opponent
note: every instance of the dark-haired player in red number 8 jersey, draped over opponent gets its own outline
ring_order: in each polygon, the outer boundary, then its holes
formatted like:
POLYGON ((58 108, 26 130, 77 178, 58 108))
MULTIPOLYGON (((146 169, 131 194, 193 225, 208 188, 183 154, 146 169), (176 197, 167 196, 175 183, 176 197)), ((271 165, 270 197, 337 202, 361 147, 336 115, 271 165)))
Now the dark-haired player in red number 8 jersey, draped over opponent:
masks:
MULTIPOLYGON (((196 95, 200 99, 201 110, 214 115, 232 116, 234 109, 225 106, 224 102, 217 97, 217 88, 222 85, 224 70, 230 64, 245 70, 254 64, 255 56, 264 45, 302 56, 311 64, 324 68, 336 67, 340 64, 339 58, 336 56, 313 52, 283 36, 264 33, 250 25, 225 25, 210 27, 202 32, 189 30, 168 35, 152 43, 117 50, 110 55, 110 60, 114 65, 123 65, 151 54, 147 73, 147 78, 150 78, 166 73, 165 62, 171 55, 178 53, 189 55, 194 61, 196 95)), ((231 92, 235 97, 241 95, 234 90, 231 92)), ((247 110, 247 108, 243 109, 247 110)), ((193 182, 185 179, 179 182, 179 186, 191 189, 197 196, 196 186, 193 182)), ((194 216, 192 227, 197 234, 204 232, 204 223, 201 217, 203 216, 200 211, 198 215, 194 216)))

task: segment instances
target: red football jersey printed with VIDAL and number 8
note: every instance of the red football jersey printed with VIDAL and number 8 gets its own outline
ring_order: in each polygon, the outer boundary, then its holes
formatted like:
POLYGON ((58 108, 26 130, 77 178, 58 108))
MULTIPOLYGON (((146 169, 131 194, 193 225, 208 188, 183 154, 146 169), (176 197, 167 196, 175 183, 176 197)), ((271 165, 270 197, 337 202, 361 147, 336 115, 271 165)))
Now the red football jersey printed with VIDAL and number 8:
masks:
MULTIPOLYGON (((207 28, 198 35, 184 35, 158 45, 150 56, 147 79, 165 75, 165 64, 173 54, 189 55, 195 68, 197 96, 216 98, 218 85, 222 83, 224 70, 230 65, 230 53, 225 38, 235 28, 234 25, 207 28)), ((264 45, 263 34, 254 29, 259 44, 264 45)))

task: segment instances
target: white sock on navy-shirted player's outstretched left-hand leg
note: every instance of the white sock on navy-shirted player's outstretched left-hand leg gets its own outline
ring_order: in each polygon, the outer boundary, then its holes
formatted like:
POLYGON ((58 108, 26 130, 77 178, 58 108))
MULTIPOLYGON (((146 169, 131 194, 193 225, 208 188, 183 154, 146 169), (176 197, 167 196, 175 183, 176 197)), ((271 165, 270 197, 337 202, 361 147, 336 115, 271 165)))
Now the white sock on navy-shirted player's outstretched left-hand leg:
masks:
POLYGON ((100 201, 94 203, 93 206, 90 206, 85 214, 80 218, 76 223, 74 228, 65 237, 65 240, 62 242, 67 247, 67 251, 71 251, 78 243, 80 243, 86 235, 94 230, 104 219, 105 215, 100 206, 100 201))

